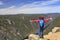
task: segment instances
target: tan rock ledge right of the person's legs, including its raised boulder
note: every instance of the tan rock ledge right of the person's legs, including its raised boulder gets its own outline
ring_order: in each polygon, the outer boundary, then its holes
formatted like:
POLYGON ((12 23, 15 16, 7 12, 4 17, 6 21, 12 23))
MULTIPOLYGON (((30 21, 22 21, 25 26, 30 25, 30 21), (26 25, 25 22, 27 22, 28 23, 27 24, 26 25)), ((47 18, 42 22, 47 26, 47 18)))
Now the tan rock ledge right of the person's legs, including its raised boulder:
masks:
POLYGON ((60 40, 60 32, 56 32, 57 30, 60 30, 60 27, 54 27, 52 29, 52 32, 49 32, 48 35, 44 35, 44 38, 46 40, 60 40))

